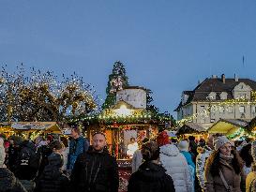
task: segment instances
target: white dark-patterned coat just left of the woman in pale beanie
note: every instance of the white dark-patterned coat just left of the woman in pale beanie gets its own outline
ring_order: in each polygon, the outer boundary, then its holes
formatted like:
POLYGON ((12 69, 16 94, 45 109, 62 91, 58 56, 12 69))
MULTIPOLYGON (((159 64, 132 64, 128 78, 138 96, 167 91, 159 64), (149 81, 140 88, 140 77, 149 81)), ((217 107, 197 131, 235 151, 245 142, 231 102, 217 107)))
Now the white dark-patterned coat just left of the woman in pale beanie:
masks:
POLYGON ((211 151, 206 150, 203 153, 199 153, 196 158, 196 176, 202 188, 204 186, 204 166, 206 163, 206 159, 211 155, 211 153, 211 151))

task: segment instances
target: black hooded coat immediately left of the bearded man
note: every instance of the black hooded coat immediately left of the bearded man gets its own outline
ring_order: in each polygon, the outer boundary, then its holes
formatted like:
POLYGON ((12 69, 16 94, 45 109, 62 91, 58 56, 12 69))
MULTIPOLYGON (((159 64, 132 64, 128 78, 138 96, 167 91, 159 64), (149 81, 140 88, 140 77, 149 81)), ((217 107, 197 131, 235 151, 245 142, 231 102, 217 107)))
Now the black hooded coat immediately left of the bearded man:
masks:
POLYGON ((38 178, 36 192, 62 192, 68 191, 68 177, 61 171, 63 165, 62 156, 52 154, 47 165, 38 178))

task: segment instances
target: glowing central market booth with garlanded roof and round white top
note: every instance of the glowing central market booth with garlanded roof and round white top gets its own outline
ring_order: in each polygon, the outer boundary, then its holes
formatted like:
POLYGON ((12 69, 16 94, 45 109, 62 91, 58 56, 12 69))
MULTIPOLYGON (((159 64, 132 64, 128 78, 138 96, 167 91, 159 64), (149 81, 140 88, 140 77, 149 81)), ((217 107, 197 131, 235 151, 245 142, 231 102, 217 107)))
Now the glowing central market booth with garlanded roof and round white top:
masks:
POLYGON ((88 138, 92 139, 95 132, 104 132, 111 154, 117 159, 130 159, 130 140, 135 139, 138 145, 144 138, 153 140, 158 135, 158 128, 170 120, 167 115, 152 114, 145 109, 146 90, 128 87, 116 93, 116 103, 110 109, 84 116, 79 121, 86 127, 88 138))

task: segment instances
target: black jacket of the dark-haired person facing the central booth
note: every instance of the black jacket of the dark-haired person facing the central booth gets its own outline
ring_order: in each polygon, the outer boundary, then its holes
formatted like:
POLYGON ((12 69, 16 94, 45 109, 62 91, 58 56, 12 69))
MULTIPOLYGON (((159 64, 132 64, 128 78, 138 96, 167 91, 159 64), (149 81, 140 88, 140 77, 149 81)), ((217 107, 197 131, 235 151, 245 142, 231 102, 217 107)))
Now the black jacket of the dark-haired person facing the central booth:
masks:
POLYGON ((128 181, 128 192, 173 192, 172 177, 162 166, 144 162, 139 170, 132 173, 128 181))

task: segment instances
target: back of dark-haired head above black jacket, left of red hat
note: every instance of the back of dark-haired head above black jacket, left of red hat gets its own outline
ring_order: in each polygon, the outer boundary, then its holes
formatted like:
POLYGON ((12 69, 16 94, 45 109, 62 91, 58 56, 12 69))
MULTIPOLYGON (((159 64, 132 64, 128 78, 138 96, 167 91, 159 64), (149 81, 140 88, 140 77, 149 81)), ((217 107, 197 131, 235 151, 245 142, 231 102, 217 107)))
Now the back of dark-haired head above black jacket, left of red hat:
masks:
POLYGON ((158 160, 159 158, 159 146, 155 141, 148 141, 143 144, 142 155, 144 161, 158 160))

